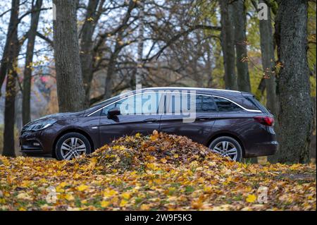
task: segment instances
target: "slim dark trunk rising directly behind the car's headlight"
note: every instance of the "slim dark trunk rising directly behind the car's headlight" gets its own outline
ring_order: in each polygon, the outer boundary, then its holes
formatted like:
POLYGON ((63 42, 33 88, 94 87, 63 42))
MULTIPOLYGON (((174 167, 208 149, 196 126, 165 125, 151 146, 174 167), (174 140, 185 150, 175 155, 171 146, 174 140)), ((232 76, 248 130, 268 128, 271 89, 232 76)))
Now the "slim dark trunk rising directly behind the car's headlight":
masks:
POLYGON ((33 61, 33 51, 35 45, 35 37, 37 35, 37 24, 39 23, 39 9, 42 7, 42 0, 37 0, 35 6, 32 5, 31 25, 27 34, 27 51, 25 56, 25 68, 23 76, 23 98, 22 98, 22 121, 23 125, 31 120, 30 113, 30 97, 31 97, 31 78, 33 61))

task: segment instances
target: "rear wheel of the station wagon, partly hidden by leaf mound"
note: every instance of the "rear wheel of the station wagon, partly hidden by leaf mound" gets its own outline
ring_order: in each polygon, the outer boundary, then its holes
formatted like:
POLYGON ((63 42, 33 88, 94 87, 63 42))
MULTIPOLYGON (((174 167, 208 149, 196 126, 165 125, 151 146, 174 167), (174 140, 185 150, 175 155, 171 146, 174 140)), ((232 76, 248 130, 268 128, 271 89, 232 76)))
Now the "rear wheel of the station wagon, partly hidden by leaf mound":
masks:
POLYGON ((235 138, 228 136, 216 138, 209 145, 209 149, 225 157, 230 157, 236 162, 242 161, 242 147, 235 138))

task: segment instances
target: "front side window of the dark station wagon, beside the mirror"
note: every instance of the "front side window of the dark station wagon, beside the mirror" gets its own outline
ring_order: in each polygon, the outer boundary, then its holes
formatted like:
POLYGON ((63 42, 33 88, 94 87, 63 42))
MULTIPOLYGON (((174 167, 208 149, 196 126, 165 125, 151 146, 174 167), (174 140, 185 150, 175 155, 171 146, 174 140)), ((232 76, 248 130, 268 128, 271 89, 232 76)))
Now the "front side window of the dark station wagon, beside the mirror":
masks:
POLYGON ((102 109, 101 116, 106 116, 108 110, 114 107, 120 109, 120 115, 157 114, 160 99, 161 93, 159 92, 144 92, 139 95, 132 95, 102 109))

